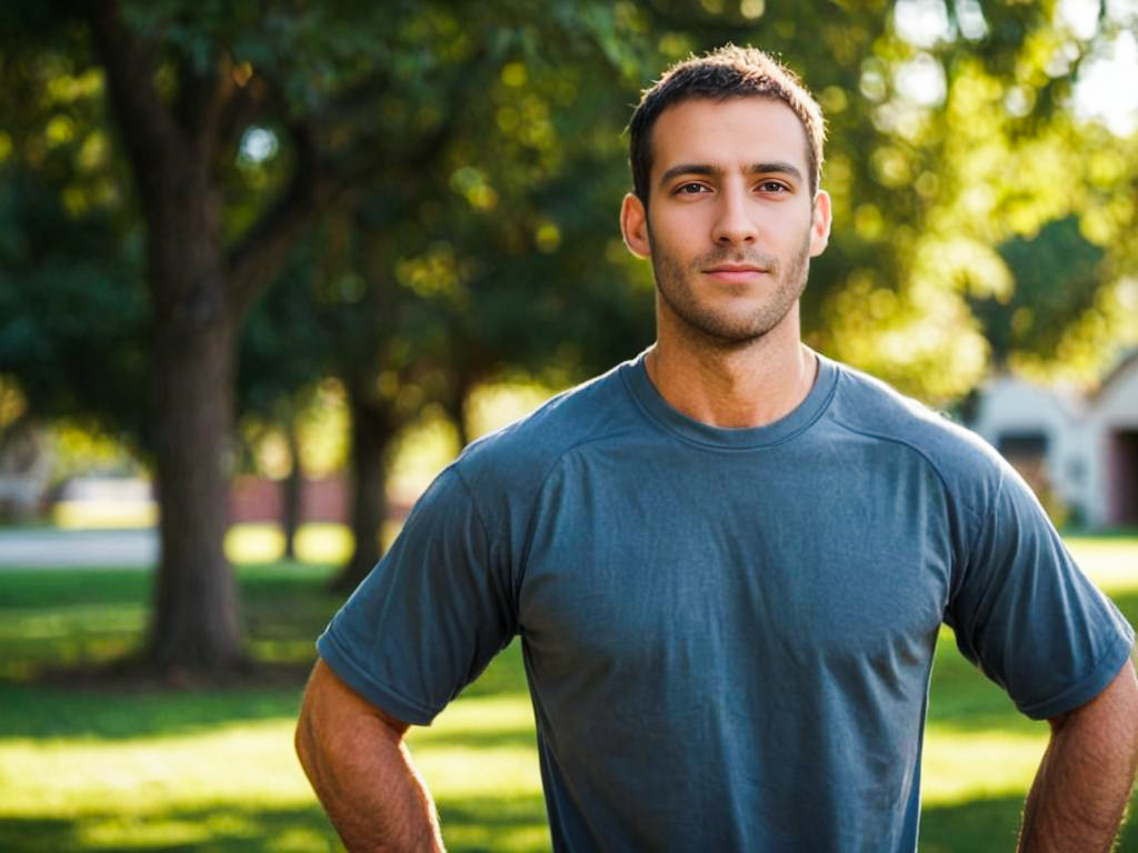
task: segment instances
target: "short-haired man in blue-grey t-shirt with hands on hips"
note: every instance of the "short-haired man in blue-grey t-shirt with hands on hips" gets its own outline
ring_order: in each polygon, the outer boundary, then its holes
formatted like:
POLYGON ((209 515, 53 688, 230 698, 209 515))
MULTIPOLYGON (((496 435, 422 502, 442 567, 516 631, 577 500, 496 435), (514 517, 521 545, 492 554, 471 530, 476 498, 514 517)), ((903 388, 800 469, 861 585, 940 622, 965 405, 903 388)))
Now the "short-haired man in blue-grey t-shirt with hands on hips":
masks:
POLYGON ((439 850, 403 745, 520 633, 556 850, 912 851, 942 622, 1052 723, 1021 844, 1107 850, 1133 633, 968 433, 805 347, 823 123, 726 48, 630 125, 657 342, 468 448, 320 638, 297 748, 351 850, 439 850))

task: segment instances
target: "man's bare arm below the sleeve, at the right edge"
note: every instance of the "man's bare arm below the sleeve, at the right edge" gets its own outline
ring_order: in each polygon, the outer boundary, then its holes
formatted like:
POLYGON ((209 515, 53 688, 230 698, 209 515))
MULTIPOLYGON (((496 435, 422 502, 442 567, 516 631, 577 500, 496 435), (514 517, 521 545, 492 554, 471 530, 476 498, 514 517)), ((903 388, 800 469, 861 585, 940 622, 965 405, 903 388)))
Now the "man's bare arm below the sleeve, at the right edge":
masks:
POLYGON ((1138 765, 1138 680, 1128 660, 1086 705, 1049 720, 1023 811, 1021 853, 1110 851, 1138 765))

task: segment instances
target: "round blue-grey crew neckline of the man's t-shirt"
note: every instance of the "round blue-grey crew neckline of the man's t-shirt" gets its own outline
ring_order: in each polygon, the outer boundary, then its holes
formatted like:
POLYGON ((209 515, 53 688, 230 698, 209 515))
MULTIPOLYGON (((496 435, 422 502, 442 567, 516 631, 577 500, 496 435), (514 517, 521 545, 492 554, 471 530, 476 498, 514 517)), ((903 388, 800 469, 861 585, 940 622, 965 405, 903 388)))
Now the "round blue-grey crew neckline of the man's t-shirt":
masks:
POLYGON ((712 426, 688 417, 660 396, 655 386, 652 384, 652 380, 649 379, 648 365, 645 364, 646 355, 648 350, 644 350, 632 362, 621 365, 620 378, 624 380, 625 387, 650 420, 655 421, 668 432, 704 447, 753 449, 787 441, 818 420, 830 404, 838 384, 836 364, 820 353, 816 353, 817 375, 814 378, 814 384, 806 398, 795 408, 777 421, 761 426, 740 429, 712 426))

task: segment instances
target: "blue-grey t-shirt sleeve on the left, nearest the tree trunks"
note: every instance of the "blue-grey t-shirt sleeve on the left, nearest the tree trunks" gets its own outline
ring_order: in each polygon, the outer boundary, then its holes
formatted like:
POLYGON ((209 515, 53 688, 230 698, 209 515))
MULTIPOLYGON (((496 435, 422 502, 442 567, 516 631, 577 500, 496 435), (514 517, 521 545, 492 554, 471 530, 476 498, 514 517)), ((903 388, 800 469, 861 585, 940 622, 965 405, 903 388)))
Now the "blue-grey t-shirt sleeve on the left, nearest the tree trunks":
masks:
POLYGON ((516 631, 497 550, 467 483, 445 470, 318 639, 321 657, 387 713, 430 723, 516 631))

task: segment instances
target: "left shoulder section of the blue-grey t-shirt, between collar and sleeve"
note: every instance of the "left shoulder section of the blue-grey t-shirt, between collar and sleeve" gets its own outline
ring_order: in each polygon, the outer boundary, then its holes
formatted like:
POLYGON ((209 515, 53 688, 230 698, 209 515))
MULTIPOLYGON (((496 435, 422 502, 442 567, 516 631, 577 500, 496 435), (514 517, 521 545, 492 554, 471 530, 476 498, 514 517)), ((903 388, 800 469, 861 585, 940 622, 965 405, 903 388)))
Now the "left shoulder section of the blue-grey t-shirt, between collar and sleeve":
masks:
POLYGON ((599 441, 630 440, 643 420, 621 373, 632 363, 551 397, 537 409, 472 441, 454 466, 470 488, 537 486, 566 454, 599 441))

